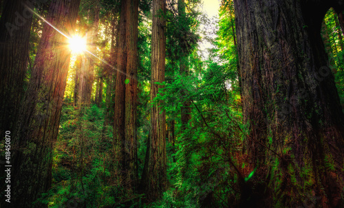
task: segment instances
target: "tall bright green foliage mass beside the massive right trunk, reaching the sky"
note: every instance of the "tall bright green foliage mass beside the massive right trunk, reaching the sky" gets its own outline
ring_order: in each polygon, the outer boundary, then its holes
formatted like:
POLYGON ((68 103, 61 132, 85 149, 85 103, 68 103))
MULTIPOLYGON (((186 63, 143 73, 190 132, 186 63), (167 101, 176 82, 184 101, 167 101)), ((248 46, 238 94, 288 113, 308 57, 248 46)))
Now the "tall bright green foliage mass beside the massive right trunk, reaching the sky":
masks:
POLYGON ((175 43, 180 40, 177 33, 190 30, 188 25, 192 24, 185 21, 177 32, 169 31, 169 27, 177 28, 175 23, 167 26, 166 85, 152 104, 164 101, 168 121, 175 121, 175 153, 169 143, 171 187, 151 207, 230 207, 239 199, 238 178, 249 179, 254 173, 239 160, 246 127, 241 123, 236 51, 233 37, 228 37, 233 35, 229 31, 233 21, 226 18, 228 12, 222 12, 217 48, 208 61, 200 61, 197 50, 191 51, 187 55, 189 74, 178 74, 183 52, 175 43), (191 103, 191 120, 186 127, 180 118, 184 103, 191 103))

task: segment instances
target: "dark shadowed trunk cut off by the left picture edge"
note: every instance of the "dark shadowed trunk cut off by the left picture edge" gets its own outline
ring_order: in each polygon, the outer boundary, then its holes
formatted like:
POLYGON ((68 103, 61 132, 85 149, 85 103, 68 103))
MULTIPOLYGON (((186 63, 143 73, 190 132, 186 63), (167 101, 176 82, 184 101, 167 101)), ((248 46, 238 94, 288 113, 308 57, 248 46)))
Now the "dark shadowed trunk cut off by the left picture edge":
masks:
MULTIPOLYGON (((0 135, 14 131, 29 59, 32 13, 25 0, 3 2, 0 20, 0 135)), ((2 4, 2 2, 1 2, 2 4)), ((30 8, 32 8, 31 5, 30 8)))

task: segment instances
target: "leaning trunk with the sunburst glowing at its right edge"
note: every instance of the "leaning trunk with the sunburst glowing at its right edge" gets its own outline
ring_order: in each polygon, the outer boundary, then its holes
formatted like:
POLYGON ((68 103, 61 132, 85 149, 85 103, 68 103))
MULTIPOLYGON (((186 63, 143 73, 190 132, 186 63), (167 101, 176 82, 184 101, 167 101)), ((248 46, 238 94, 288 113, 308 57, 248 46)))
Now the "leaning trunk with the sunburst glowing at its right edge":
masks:
MULTIPOLYGON (((47 21, 59 30, 73 31, 80 0, 52 1, 47 21)), ((67 38, 47 23, 34 61, 13 134, 13 207, 32 205, 52 182, 52 150, 58 134, 70 50, 67 38)))

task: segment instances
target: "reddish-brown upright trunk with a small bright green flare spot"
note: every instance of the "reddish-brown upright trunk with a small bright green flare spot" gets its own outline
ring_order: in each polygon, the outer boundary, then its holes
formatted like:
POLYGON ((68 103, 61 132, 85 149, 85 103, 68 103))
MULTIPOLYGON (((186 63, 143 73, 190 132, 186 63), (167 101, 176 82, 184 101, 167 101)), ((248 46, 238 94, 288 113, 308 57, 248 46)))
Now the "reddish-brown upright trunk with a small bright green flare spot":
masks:
POLYGON ((138 67, 138 0, 121 1, 118 37, 118 71, 114 121, 114 146, 123 185, 136 186, 137 138, 137 67, 138 67))

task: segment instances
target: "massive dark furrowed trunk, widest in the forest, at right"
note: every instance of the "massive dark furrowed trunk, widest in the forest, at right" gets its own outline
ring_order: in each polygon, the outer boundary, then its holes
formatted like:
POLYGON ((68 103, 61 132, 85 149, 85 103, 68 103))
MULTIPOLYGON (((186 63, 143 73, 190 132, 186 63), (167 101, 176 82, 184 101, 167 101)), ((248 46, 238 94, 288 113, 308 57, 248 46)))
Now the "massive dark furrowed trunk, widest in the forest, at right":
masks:
POLYGON ((257 168, 241 180, 241 206, 343 206, 344 117, 320 35, 330 6, 235 1, 245 151, 257 168))

